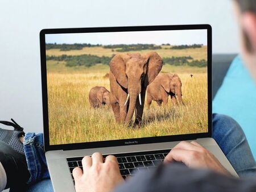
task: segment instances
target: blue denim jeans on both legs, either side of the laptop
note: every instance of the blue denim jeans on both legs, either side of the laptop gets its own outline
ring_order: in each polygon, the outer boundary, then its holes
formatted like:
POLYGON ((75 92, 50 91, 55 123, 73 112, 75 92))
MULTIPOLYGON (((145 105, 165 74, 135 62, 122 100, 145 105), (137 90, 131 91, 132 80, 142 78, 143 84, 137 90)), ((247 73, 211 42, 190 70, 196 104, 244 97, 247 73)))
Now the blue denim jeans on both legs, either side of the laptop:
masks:
MULTIPOLYGON (((213 114, 213 139, 216 140, 238 176, 256 176, 256 162, 242 128, 234 119, 226 115, 213 114)), ((27 191, 53 191, 43 151, 42 133, 38 135, 27 133, 24 150, 31 173, 29 182, 34 183, 28 187, 27 191)))

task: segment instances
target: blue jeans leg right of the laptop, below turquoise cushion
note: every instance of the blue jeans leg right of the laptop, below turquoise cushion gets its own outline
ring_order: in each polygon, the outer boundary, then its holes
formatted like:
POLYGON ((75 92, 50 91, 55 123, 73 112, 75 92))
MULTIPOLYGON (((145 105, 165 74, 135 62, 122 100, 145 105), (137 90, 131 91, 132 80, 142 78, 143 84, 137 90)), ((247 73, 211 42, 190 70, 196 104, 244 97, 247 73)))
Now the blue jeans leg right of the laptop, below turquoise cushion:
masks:
POLYGON ((213 139, 240 177, 256 176, 256 162, 240 125, 226 115, 213 114, 213 139))

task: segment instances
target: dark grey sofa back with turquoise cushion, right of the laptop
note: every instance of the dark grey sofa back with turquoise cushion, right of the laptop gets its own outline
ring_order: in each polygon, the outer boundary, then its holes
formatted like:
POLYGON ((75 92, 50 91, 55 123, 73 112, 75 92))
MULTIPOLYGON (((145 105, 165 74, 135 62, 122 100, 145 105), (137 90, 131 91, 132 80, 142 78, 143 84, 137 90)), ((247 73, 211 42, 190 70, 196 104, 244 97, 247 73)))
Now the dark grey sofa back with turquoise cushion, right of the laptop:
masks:
POLYGON ((213 55, 212 97, 213 112, 240 124, 256 158, 256 83, 239 55, 213 55))

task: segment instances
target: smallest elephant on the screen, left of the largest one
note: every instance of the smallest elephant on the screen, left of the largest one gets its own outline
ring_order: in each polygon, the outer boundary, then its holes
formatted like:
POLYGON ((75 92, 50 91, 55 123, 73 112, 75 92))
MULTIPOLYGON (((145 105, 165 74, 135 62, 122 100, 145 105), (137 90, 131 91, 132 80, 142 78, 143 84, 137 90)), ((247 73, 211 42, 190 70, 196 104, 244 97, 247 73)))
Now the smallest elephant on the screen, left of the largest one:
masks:
POLYGON ((104 105, 110 106, 110 92, 105 87, 92 87, 89 92, 89 101, 93 108, 103 107, 104 105))

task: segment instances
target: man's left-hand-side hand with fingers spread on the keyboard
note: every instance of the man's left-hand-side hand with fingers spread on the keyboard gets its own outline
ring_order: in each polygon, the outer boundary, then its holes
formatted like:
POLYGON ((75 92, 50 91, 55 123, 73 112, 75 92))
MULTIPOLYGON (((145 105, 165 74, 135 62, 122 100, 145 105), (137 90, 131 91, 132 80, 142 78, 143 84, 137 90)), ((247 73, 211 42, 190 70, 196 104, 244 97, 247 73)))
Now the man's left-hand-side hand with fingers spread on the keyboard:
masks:
POLYGON ((93 153, 92 157, 82 159, 82 169, 73 169, 76 191, 107 192, 123 182, 117 158, 109 155, 105 162, 100 153, 93 153))

